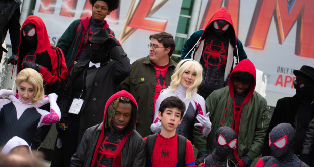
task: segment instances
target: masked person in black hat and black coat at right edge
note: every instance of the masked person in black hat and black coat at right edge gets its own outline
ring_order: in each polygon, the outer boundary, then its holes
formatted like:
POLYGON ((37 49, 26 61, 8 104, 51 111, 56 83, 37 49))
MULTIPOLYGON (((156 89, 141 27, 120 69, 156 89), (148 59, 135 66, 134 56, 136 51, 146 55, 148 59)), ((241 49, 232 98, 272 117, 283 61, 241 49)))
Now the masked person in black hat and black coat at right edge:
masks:
POLYGON ((264 140, 263 156, 270 156, 269 133, 280 123, 290 123, 295 129, 294 154, 301 155, 302 145, 310 121, 314 118, 314 68, 303 65, 300 70, 294 70, 296 80, 293 97, 279 99, 271 117, 264 140))

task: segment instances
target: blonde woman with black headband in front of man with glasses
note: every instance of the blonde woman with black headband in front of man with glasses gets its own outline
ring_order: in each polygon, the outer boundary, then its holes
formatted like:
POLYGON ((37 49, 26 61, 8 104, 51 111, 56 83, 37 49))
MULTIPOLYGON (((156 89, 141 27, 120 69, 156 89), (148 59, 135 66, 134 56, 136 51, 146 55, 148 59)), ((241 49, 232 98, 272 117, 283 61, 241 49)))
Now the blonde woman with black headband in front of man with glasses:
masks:
POLYGON ((199 123, 195 124, 195 126, 199 126, 204 136, 209 134, 212 123, 208 114, 204 115, 206 113, 204 98, 197 94, 198 86, 202 82, 202 71, 201 64, 192 59, 182 60, 177 65, 174 74, 171 76, 170 87, 164 90, 156 101, 155 119, 150 126, 152 132, 158 133, 161 130, 161 121, 158 120, 158 109, 161 102, 167 97, 177 96, 185 103, 186 110, 176 133, 192 140, 192 124, 196 117, 199 123))

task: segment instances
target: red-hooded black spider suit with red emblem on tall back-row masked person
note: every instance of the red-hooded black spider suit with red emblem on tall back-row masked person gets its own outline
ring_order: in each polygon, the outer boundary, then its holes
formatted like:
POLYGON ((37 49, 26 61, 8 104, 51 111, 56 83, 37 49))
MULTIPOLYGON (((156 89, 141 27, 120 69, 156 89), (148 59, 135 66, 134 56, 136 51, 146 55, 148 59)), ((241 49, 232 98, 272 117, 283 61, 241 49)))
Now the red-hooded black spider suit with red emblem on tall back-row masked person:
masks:
POLYGON ((198 94, 204 99, 212 91, 227 85, 235 45, 236 37, 231 15, 222 7, 208 22, 194 52, 194 60, 199 61, 203 67, 203 82, 199 86, 198 94))

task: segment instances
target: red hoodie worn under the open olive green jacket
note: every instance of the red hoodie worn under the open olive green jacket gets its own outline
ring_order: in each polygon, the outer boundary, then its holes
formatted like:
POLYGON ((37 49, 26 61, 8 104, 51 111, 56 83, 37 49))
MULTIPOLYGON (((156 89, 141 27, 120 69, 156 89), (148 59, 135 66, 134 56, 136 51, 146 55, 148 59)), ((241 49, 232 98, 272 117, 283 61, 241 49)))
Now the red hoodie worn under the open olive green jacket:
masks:
MULTIPOLYGON (((231 72, 230 77, 229 77, 229 91, 230 91, 230 96, 233 99, 233 115, 234 115, 233 116, 232 129, 233 129, 233 124, 235 124, 234 130, 235 130, 235 133, 237 133, 237 138, 238 138, 238 134, 239 134, 242 108, 243 108, 245 103, 247 103, 247 105, 249 104, 249 100, 251 99, 251 97, 254 93, 254 90, 255 90, 255 85, 256 85, 256 70, 255 70, 254 64, 249 59, 244 59, 244 60, 240 61, 234 67, 234 69, 231 72), (234 72, 237 72, 237 71, 249 72, 254 77, 254 83, 251 84, 251 86, 249 88, 249 93, 244 98, 242 105, 240 107, 240 110, 238 112, 235 110, 234 88, 233 88, 233 79, 232 79, 232 74, 234 72)), ((228 101, 228 103, 229 103, 229 101, 228 101)), ((234 152, 235 158, 237 159, 237 161, 239 161, 240 159, 238 158, 239 157, 238 156, 238 147, 233 149, 233 152, 234 152)))

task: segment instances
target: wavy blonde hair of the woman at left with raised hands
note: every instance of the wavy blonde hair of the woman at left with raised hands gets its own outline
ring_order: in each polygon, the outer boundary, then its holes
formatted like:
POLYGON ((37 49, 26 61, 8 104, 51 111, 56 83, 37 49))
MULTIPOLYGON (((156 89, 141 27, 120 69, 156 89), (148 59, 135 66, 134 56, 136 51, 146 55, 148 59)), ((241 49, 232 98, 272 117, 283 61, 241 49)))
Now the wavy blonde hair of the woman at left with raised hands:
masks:
POLYGON ((34 95, 31 101, 32 104, 37 105, 38 101, 44 99, 42 74, 38 73, 36 70, 31 68, 23 69, 16 76, 15 79, 16 87, 18 87, 21 84, 21 82, 26 82, 34 87, 34 95))

